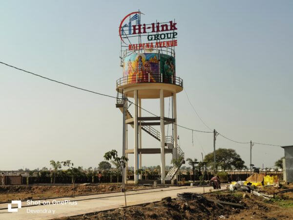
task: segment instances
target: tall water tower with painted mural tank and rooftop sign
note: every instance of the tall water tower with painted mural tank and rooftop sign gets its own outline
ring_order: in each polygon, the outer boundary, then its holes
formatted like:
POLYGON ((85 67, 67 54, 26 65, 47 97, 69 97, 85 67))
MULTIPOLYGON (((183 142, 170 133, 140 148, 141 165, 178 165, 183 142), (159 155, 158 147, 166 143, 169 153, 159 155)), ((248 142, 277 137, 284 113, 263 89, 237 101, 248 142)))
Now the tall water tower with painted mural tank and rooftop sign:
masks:
MULTIPOLYGON (((123 22, 121 22, 120 27, 123 28, 119 30, 122 40, 121 66, 123 67, 123 77, 116 81, 116 107, 124 113, 123 154, 128 158, 130 157, 129 154, 134 156, 134 181, 136 183, 142 178, 141 175, 135 174, 138 169, 142 169, 142 154, 160 154, 161 181, 164 183, 165 180, 175 178, 178 169, 184 163, 184 153, 177 144, 176 94, 183 90, 183 80, 177 76, 175 68, 174 47, 177 41, 169 39, 165 43, 159 41, 158 44, 157 39, 154 43, 143 44, 141 39, 145 35, 141 33, 130 34, 132 33, 131 28, 137 28, 136 31, 138 32, 138 27, 143 26, 140 22, 140 12, 131 13, 126 16, 126 18, 128 17, 129 23, 123 25, 123 22), (139 26, 131 26, 133 21, 139 26), (124 28, 126 27, 128 27, 128 31, 125 31, 124 28), (138 39, 137 44, 131 44, 133 38, 138 39), (125 43, 126 39, 130 44, 125 43), (167 44, 169 46, 166 46, 167 44), (160 45, 165 45, 165 47, 160 45), (172 116, 170 118, 165 117, 164 114, 164 100, 167 97, 172 97, 172 116), (143 105, 144 99, 159 99, 160 115, 143 115, 145 111, 141 108, 150 109, 143 105), (166 136, 165 126, 168 124, 172 124, 173 129, 171 135, 166 136), (133 131, 128 129, 129 127, 132 127, 133 131), (157 139, 158 145, 154 146, 154 148, 146 148, 146 140, 142 139, 142 132, 146 132, 157 139), (128 138, 133 138, 132 146, 128 145, 128 138), (176 164, 168 171, 167 175, 165 170, 166 154, 172 154, 172 158, 176 159, 176 164)), ((157 24, 159 23, 157 22, 157 24)), ((169 22, 168 25, 174 26, 172 22, 169 22)), ((174 30, 172 33, 174 33, 174 30)), ((124 174, 126 174, 125 172, 124 174)))

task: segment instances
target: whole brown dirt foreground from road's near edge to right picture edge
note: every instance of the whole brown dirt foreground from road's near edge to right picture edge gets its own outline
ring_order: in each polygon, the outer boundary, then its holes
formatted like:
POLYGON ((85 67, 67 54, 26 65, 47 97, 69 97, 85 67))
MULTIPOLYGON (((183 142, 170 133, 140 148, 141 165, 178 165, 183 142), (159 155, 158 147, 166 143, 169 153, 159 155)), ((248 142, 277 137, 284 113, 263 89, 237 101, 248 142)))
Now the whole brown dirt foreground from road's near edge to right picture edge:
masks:
MULTIPOLYGON (((293 185, 289 187, 293 188, 293 185)), ((265 187, 261 190, 262 193, 272 194, 283 189, 265 187)), ((293 192, 278 194, 270 200, 236 191, 214 192, 204 197, 242 204, 243 208, 209 202, 205 198, 193 201, 165 198, 160 202, 142 206, 131 206, 81 217, 64 217, 58 220, 289 220, 293 216, 293 192), (245 198, 244 194, 246 194, 245 198)))

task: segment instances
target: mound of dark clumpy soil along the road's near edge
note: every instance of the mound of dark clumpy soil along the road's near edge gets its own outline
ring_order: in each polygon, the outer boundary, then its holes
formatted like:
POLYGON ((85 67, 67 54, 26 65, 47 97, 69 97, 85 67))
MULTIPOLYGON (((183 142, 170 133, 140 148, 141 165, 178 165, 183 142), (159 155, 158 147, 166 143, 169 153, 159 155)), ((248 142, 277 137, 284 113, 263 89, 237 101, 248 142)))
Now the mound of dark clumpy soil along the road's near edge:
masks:
POLYGON ((182 220, 182 219, 218 219, 219 216, 227 213, 239 212, 230 206, 220 207, 215 203, 206 200, 193 200, 184 202, 171 198, 165 198, 160 202, 149 203, 142 206, 131 206, 127 208, 115 209, 113 211, 101 212, 82 217, 63 217, 58 220, 182 220))

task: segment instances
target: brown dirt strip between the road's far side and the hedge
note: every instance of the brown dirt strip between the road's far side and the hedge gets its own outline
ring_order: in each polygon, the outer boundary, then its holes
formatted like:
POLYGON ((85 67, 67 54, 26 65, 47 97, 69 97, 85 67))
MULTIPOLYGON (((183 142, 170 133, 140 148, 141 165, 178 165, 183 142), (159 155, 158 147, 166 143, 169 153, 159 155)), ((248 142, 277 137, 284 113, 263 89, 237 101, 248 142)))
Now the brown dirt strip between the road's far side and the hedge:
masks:
MULTIPOLYGON (((127 185, 126 190, 147 189, 151 187, 127 185)), ((114 184, 100 184, 89 186, 75 186, 75 195, 96 194, 106 192, 120 192, 121 186, 114 184)), ((72 185, 68 186, 0 186, 0 202, 10 200, 26 200, 40 198, 54 198, 72 196, 72 185)))

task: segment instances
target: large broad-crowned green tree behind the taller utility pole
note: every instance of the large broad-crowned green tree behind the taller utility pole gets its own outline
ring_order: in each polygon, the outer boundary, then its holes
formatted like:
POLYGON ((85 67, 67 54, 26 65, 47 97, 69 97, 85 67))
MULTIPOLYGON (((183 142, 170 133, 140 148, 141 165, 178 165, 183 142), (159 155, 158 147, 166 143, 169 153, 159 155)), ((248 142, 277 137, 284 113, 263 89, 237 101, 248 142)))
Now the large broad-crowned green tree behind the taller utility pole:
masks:
MULTIPOLYGON (((207 165, 209 167, 213 167, 213 158, 213 152, 205 156, 204 161, 208 163, 207 165)), ((229 170, 247 168, 244 163, 240 155, 233 149, 219 148, 216 150, 216 169, 221 168, 223 170, 229 170)))

